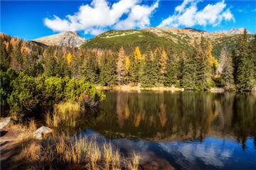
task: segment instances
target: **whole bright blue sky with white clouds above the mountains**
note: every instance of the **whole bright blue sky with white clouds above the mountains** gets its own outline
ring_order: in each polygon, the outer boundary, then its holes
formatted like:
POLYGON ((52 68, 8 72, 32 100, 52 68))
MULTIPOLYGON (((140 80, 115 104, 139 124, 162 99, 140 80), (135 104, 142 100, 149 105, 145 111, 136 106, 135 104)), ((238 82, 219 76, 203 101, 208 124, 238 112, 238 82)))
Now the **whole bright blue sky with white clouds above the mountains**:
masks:
POLYGON ((0 32, 32 40, 62 31, 90 39, 110 29, 196 28, 256 33, 255 0, 1 0, 0 32))

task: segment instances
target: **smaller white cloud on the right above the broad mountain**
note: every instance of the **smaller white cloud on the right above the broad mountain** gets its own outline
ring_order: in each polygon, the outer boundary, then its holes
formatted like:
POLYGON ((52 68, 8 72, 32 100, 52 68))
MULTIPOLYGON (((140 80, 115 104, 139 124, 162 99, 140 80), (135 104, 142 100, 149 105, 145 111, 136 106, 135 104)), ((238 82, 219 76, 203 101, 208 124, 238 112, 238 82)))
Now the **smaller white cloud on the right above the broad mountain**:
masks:
POLYGON ((235 18, 225 1, 216 4, 208 4, 201 11, 198 10, 200 0, 184 0, 180 6, 176 6, 174 14, 164 19, 159 27, 178 26, 218 26, 222 21, 234 21, 235 18))

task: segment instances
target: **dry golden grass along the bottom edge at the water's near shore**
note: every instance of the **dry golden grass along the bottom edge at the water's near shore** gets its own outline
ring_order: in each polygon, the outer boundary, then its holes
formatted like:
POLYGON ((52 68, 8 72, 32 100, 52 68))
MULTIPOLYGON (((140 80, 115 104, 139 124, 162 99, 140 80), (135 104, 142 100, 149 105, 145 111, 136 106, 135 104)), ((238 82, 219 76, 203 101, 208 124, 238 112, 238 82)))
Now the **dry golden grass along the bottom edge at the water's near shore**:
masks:
POLYGON ((110 143, 100 147, 95 140, 69 135, 50 136, 43 140, 23 139, 20 158, 30 162, 30 169, 75 165, 86 169, 139 169, 139 157, 125 159, 110 143), (55 160, 55 162, 53 161, 55 160), (57 160, 57 162, 56 162, 57 160), (39 164, 39 163, 40 164, 39 164))

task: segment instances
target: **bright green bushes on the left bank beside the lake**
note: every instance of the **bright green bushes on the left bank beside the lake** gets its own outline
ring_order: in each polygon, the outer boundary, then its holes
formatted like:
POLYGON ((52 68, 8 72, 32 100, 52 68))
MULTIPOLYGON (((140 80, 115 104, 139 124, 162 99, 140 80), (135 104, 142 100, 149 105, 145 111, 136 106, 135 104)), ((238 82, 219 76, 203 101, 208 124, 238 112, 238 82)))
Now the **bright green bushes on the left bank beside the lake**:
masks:
MULTIPOLYGON (((84 79, 69 77, 32 77, 9 68, 1 70, 1 115, 22 118, 36 111, 51 108, 60 101, 85 104, 89 98, 100 101, 105 96, 84 79)), ((92 101, 92 102, 93 102, 92 101)))

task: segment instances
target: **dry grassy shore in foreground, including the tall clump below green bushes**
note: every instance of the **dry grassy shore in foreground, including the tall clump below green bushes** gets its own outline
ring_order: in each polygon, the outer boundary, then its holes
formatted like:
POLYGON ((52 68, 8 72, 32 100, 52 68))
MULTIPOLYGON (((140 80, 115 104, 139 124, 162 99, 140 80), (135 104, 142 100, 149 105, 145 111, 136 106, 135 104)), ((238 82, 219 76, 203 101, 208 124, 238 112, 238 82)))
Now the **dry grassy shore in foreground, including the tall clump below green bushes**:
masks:
POLYGON ((43 140, 33 137, 33 132, 39 128, 34 120, 28 125, 9 125, 9 129, 20 129, 22 133, 9 143, 11 149, 1 151, 9 151, 11 155, 1 162, 3 168, 16 169, 14 166, 18 165, 20 169, 139 169, 136 154, 127 158, 109 142, 99 144, 94 139, 69 132, 69 128, 78 124, 81 109, 78 103, 55 105, 53 113, 46 115, 46 123, 53 128, 53 134, 43 140))

